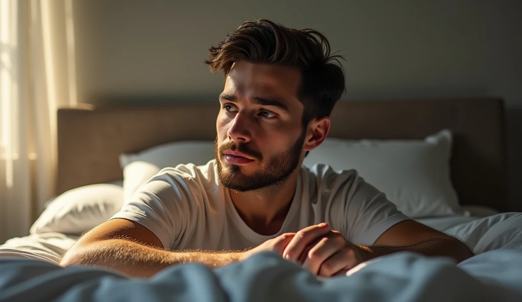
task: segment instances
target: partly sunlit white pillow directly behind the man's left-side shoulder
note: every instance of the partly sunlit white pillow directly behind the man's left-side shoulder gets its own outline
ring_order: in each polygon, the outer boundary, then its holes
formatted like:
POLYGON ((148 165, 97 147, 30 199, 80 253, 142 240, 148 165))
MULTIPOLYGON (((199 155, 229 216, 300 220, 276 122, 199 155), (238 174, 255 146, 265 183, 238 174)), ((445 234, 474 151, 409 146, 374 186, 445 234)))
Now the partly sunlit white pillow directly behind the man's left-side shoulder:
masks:
POLYGON ((124 203, 161 169, 179 164, 205 165, 215 158, 212 141, 181 141, 158 145, 135 154, 121 154, 124 203))

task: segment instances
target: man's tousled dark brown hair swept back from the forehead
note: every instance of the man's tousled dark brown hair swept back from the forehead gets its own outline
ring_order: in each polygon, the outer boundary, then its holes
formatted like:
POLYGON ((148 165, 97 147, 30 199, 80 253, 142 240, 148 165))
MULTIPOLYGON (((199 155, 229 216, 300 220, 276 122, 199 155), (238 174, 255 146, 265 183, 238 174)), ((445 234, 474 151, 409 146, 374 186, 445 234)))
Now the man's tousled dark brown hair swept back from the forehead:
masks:
POLYGON ((329 116, 345 91, 345 72, 330 53, 326 37, 313 29, 292 29, 267 19, 247 21, 209 49, 210 71, 225 79, 235 61, 296 67, 301 71, 297 98, 303 103, 302 123, 329 116))

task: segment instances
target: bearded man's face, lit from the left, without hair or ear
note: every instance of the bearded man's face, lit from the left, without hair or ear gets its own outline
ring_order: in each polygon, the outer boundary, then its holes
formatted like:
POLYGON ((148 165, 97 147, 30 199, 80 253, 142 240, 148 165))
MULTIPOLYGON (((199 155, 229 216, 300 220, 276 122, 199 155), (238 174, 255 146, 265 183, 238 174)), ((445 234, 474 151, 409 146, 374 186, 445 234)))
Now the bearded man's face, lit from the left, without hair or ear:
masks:
POLYGON ((292 67, 235 62, 216 121, 220 183, 245 192, 281 184, 300 165, 306 131, 292 67))

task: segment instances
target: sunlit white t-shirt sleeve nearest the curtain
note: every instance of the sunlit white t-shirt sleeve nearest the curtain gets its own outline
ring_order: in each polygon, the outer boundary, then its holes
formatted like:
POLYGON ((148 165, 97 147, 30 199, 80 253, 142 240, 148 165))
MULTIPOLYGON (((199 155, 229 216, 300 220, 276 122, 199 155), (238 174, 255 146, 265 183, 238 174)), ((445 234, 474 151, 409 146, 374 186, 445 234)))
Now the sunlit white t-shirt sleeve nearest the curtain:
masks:
POLYGON ((120 212, 110 219, 124 218, 143 225, 161 241, 164 249, 175 249, 185 233, 194 229, 200 190, 196 181, 175 168, 165 168, 142 185, 120 212))

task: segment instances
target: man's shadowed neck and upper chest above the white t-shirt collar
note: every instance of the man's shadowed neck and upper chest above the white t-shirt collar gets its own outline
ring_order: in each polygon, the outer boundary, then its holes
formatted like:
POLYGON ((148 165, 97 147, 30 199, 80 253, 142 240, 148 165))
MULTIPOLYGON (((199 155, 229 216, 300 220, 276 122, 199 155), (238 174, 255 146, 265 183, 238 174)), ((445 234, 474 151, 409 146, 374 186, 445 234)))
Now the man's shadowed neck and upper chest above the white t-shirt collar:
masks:
POLYGON ((274 235, 282 227, 295 194, 301 169, 295 169, 284 183, 256 191, 230 190, 230 198, 246 225, 261 235, 274 235))

